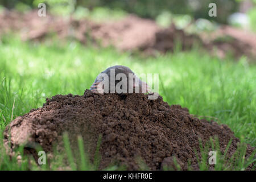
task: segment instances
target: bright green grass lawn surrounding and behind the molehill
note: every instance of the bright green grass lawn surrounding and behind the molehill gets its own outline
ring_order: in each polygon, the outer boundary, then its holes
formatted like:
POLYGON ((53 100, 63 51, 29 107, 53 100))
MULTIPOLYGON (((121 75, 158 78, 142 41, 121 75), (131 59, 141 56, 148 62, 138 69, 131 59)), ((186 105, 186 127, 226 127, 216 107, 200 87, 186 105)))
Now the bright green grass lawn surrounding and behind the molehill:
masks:
MULTIPOLYGON (((256 65, 248 65, 245 58, 238 62, 232 58, 220 60, 196 48, 143 58, 113 48, 84 47, 77 42, 40 44, 3 38, 0 131, 17 116, 41 107, 47 97, 82 95, 98 73, 117 64, 138 74, 159 73, 159 94, 164 101, 187 107, 195 115, 213 117, 228 125, 236 137, 255 146, 256 65)), ((14 167, 3 156, 1 152, 0 169, 14 167)))

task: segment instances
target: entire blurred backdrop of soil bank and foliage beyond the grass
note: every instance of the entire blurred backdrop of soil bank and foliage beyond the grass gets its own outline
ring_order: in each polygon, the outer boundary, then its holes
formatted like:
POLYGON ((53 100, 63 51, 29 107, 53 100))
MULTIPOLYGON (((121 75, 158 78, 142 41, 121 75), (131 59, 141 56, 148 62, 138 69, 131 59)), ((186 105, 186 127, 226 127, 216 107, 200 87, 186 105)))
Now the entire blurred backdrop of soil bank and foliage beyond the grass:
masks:
MULTIPOLYGON (((256 55, 255 0, 0 0, 0 34, 18 32, 23 40, 57 34, 82 44, 121 50, 173 51, 176 43, 200 44, 224 58, 256 55), (46 16, 36 15, 45 3, 46 16), (210 3, 216 15, 209 16, 210 3), (146 31, 145 31, 146 30, 146 31)), ((42 11, 41 11, 42 12, 42 11)))

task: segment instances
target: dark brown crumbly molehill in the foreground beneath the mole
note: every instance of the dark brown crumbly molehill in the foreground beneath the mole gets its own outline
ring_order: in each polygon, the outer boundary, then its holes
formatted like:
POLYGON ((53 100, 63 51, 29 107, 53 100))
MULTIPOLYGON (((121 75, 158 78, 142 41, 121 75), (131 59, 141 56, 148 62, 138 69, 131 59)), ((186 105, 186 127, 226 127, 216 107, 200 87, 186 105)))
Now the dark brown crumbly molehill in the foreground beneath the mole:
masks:
MULTIPOLYGON (((187 169, 188 160, 193 169, 199 169, 194 152, 200 156, 199 138, 205 143, 214 135, 220 140, 222 152, 233 139, 228 157, 236 151, 239 139, 228 126, 195 118, 188 109, 169 106, 160 96, 157 100, 147 97, 144 94, 99 95, 90 90, 85 90, 84 96, 53 96, 43 107, 14 119, 6 127, 5 144, 10 140, 13 151, 27 141, 26 152, 36 157, 32 149, 35 143, 48 153, 52 152, 54 143, 58 144, 58 150, 63 150, 61 136, 67 131, 72 148, 76 148, 77 135, 82 136, 92 159, 102 134, 100 169, 112 164, 139 169, 138 159, 150 169, 162 169, 163 165, 175 168, 174 156, 181 169, 187 169)), ((245 157, 252 151, 248 145, 245 157)))

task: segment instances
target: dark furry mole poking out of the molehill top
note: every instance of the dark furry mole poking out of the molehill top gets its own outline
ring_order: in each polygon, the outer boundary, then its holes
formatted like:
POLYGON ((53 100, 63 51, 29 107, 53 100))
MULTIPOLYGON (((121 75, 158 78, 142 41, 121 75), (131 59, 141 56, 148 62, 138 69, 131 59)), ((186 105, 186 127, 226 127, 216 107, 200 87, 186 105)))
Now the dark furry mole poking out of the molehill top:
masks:
POLYGON ((90 86, 90 90, 93 93, 100 93, 100 94, 103 94, 103 93, 150 93, 151 92, 150 86, 148 86, 146 82, 139 79, 135 75, 135 73, 131 71, 130 68, 125 67, 123 65, 115 65, 101 72, 96 77, 92 86, 90 86), (123 80, 123 79, 126 79, 126 80, 123 80))

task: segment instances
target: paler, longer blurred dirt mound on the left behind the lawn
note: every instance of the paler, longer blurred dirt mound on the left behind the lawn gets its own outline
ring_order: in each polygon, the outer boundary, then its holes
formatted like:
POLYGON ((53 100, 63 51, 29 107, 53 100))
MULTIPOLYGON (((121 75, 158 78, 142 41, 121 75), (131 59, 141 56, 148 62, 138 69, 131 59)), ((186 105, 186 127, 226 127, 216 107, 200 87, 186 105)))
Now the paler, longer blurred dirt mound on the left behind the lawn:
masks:
POLYGON ((18 31, 23 40, 42 40, 47 35, 55 34, 59 38, 77 39, 83 44, 90 41, 101 46, 115 46, 120 50, 153 46, 158 30, 154 21, 135 15, 96 23, 89 19, 64 19, 50 14, 39 17, 37 11, 25 14, 4 11, 0 14, 0 34, 18 31))

